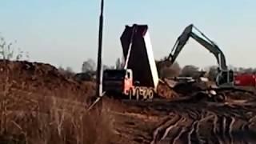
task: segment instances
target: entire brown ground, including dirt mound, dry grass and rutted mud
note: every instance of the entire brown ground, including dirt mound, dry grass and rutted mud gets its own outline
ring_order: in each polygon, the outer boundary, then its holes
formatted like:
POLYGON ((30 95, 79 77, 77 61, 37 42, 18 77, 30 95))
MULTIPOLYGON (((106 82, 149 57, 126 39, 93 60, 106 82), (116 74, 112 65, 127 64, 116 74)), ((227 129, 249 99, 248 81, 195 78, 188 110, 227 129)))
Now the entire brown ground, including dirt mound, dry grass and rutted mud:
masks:
POLYGON ((86 109, 94 82, 54 66, 1 61, 1 143, 254 143, 256 97, 226 92, 227 102, 119 101, 86 109))

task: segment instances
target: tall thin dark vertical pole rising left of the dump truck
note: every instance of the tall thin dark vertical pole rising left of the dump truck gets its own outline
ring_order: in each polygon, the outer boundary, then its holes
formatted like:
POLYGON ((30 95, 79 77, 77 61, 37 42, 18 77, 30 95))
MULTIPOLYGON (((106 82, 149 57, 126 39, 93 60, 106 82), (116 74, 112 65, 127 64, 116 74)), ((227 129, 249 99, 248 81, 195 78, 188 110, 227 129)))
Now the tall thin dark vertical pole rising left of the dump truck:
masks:
POLYGON ((102 31, 103 31, 103 6, 104 0, 101 0, 101 13, 99 16, 98 29, 98 62, 97 62, 97 96, 102 96, 102 31))

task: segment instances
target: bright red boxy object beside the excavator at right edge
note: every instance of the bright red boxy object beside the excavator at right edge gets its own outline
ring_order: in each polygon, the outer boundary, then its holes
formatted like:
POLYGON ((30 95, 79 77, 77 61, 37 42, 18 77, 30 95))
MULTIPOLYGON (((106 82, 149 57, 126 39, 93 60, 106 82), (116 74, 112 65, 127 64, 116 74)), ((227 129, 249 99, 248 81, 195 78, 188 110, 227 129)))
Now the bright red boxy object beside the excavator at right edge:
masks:
POLYGON ((256 75, 238 74, 234 76, 234 85, 236 86, 256 86, 256 75))

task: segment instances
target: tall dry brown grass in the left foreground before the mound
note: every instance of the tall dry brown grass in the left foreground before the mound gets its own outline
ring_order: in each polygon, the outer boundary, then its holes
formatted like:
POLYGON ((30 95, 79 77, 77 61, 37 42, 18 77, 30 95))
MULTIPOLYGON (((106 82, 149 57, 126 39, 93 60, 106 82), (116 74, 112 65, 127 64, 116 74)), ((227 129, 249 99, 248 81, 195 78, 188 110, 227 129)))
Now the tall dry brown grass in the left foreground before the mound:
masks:
POLYGON ((86 102, 78 101, 75 94, 66 93, 70 95, 63 98, 42 90, 18 90, 9 70, 2 74, 6 77, 0 87, 0 143, 102 144, 114 140, 112 118, 106 110, 86 112, 86 102))

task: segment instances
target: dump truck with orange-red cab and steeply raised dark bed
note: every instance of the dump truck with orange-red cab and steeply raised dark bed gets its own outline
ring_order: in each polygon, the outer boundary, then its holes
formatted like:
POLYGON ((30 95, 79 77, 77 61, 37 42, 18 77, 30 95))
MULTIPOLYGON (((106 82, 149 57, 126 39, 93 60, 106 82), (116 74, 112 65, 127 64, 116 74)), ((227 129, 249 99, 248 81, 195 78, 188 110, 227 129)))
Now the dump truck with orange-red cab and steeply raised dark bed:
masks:
POLYGON ((158 86, 164 82, 158 78, 148 26, 126 26, 120 40, 125 65, 120 70, 104 70, 103 90, 130 99, 152 99, 161 95, 158 86))

